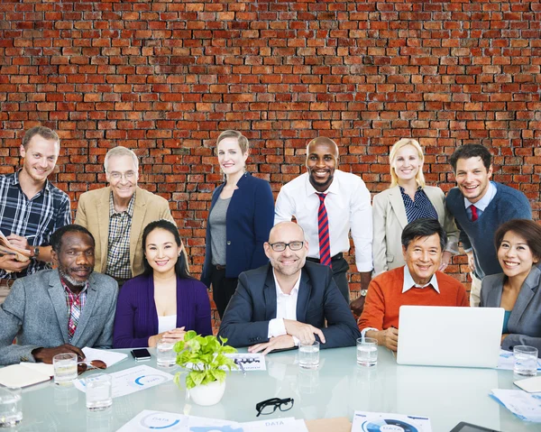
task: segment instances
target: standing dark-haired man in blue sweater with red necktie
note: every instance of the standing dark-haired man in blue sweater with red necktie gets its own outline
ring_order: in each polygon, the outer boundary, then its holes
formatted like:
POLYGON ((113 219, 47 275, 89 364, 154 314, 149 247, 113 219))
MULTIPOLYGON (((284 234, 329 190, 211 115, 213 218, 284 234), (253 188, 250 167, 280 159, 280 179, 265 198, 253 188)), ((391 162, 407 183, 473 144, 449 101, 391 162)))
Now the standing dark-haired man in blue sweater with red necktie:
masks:
POLYGON ((472 272, 471 306, 479 306, 481 279, 501 273, 494 233, 510 219, 531 219, 526 196, 514 188, 491 181, 492 155, 480 144, 466 144, 450 159, 456 188, 447 194, 445 205, 460 230, 460 241, 472 272))

